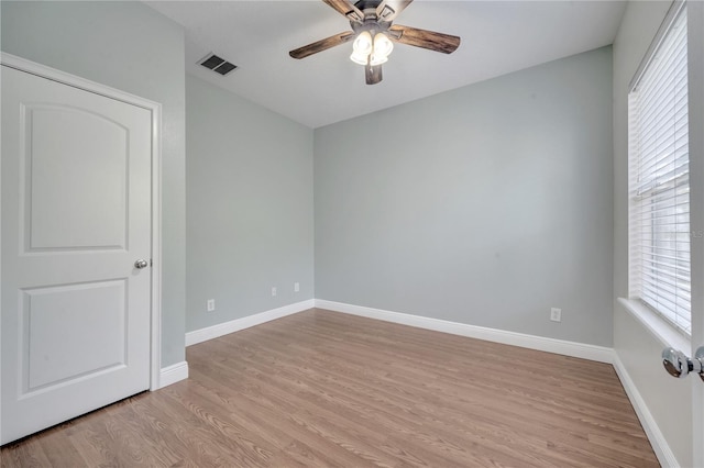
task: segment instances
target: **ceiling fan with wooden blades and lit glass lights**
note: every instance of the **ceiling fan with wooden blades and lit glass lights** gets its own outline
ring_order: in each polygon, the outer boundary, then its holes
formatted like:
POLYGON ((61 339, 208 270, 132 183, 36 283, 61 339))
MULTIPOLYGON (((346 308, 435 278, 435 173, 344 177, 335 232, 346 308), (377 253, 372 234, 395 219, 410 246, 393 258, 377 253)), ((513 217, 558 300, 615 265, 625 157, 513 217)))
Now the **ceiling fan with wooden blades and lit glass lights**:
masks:
POLYGON ((288 55, 294 58, 305 58, 354 41, 350 59, 364 66, 367 85, 375 85, 382 80, 382 64, 388 60, 388 55, 394 48, 393 43, 443 54, 451 54, 460 46, 458 36, 392 24, 413 0, 359 0, 356 3, 349 0, 322 1, 343 14, 350 21, 352 31, 304 45, 290 51, 288 55))

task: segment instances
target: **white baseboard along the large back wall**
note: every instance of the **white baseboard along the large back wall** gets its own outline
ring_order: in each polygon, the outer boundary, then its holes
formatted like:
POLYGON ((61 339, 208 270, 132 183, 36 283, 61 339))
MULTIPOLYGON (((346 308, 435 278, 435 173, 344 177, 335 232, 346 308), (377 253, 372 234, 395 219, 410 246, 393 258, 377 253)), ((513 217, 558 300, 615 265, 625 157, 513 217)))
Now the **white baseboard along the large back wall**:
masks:
POLYGON ((451 333, 453 335, 485 339, 487 342, 503 343, 505 345, 520 346, 538 349, 598 363, 613 363, 614 350, 604 346, 587 345, 563 339, 546 338, 542 336, 526 335, 524 333, 507 332, 504 330, 487 328, 484 326, 468 325, 464 323, 449 322, 446 320, 430 319, 407 313, 391 312, 361 305, 344 304, 341 302, 316 299, 316 308, 327 309, 352 315, 366 316, 402 325, 417 326, 419 328, 433 330, 436 332, 451 333))

